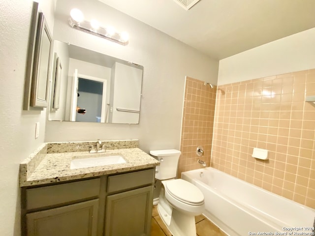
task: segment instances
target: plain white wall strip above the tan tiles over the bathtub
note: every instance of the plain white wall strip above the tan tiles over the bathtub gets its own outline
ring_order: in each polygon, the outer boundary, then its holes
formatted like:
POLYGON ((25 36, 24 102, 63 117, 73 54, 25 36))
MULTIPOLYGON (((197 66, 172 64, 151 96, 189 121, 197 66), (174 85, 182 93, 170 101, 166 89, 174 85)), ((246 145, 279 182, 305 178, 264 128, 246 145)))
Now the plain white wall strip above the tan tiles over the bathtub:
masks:
POLYGON ((315 28, 221 59, 218 85, 315 68, 315 28))

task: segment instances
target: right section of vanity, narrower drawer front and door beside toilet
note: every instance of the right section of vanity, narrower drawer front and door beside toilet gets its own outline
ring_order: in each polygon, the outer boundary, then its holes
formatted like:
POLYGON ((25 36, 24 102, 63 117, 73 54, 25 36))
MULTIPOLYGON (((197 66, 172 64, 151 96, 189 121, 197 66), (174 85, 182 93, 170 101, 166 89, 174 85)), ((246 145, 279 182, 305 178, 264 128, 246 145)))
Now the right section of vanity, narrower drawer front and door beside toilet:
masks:
POLYGON ((108 177, 105 236, 150 235, 153 182, 154 170, 108 177))

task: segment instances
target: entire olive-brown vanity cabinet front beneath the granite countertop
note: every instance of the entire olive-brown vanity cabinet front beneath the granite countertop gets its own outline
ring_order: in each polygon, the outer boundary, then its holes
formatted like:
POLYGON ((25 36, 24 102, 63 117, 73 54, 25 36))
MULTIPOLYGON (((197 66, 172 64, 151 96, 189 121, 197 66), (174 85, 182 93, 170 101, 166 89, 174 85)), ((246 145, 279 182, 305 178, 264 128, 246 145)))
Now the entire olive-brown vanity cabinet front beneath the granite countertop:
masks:
POLYGON ((150 236, 155 169, 22 188, 22 236, 150 236))

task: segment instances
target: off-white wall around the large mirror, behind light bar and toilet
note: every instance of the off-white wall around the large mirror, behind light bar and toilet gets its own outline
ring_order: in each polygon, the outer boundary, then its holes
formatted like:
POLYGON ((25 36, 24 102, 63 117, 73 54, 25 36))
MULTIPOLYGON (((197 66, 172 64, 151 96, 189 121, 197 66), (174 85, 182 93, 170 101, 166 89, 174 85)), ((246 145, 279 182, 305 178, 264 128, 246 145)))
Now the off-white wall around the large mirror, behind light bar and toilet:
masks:
POLYGON ((140 123, 99 124, 48 121, 46 141, 139 139, 145 151, 179 148, 185 76, 217 84, 218 61, 99 1, 58 0, 53 37, 144 66, 140 123), (86 19, 128 31, 126 46, 71 29, 70 10, 86 19))

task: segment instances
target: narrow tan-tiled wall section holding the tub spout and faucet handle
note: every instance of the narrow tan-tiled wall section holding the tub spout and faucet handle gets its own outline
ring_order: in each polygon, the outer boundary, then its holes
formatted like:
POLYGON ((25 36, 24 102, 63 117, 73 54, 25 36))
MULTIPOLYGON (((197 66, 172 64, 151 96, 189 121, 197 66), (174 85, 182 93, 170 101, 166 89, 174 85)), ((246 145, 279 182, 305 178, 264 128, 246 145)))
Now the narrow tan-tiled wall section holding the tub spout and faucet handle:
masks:
POLYGON ((202 168, 197 163, 198 159, 210 166, 216 90, 216 87, 211 89, 209 85, 204 85, 203 81, 186 78, 179 177, 184 171, 202 168), (198 146, 204 148, 201 157, 196 155, 198 146))

